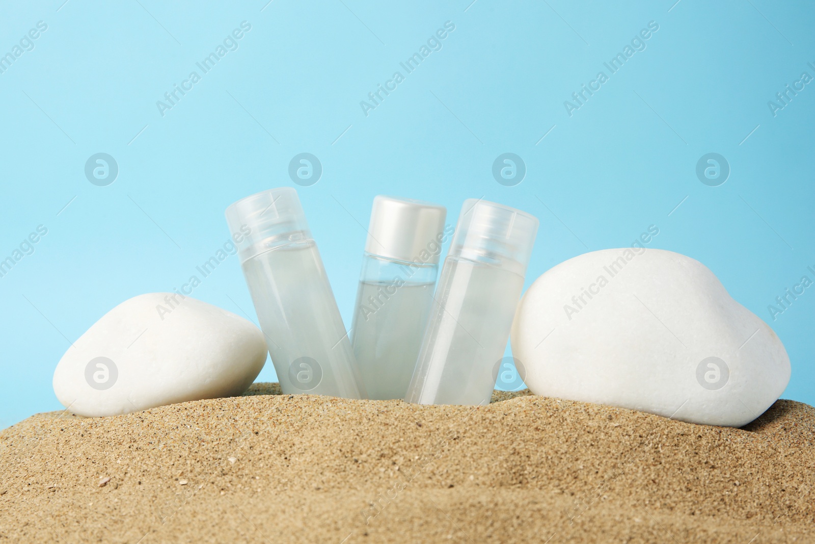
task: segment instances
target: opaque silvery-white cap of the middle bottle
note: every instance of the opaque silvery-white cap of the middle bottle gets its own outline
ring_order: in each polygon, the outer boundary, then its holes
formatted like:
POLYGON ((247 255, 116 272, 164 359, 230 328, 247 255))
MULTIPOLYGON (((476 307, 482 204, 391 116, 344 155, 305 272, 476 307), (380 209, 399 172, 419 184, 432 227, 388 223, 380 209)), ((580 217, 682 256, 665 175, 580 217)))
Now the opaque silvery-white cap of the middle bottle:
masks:
POLYGON ((432 202, 379 195, 373 199, 365 251, 410 262, 430 254, 423 262, 438 263, 440 251, 434 247, 440 245, 446 217, 447 209, 432 202))

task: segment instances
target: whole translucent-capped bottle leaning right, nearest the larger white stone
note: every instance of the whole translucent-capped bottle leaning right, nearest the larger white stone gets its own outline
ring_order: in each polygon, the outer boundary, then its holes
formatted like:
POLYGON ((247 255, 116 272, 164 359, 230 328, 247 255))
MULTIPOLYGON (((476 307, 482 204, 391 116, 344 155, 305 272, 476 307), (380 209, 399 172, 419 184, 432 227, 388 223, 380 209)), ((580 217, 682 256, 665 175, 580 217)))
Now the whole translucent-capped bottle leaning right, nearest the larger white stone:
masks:
POLYGON ((537 231, 525 212, 465 201, 405 400, 489 403, 537 231))

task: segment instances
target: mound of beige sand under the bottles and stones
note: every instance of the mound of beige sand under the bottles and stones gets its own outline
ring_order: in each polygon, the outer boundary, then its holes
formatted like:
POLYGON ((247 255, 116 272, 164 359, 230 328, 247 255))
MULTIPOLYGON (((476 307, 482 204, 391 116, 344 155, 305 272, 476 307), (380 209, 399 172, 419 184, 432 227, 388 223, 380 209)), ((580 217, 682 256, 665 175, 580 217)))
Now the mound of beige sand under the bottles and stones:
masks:
POLYGON ((279 392, 9 427, 0 542, 815 542, 815 409, 791 400, 731 429, 279 392))

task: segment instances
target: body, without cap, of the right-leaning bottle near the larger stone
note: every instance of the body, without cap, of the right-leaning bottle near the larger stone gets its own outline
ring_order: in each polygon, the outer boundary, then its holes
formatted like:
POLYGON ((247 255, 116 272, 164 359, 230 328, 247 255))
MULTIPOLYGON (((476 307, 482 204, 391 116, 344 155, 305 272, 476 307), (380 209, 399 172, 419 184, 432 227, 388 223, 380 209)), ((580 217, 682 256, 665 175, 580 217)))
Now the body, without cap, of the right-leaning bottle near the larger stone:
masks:
POLYGON ((405 400, 425 405, 489 404, 523 275, 449 256, 405 400))

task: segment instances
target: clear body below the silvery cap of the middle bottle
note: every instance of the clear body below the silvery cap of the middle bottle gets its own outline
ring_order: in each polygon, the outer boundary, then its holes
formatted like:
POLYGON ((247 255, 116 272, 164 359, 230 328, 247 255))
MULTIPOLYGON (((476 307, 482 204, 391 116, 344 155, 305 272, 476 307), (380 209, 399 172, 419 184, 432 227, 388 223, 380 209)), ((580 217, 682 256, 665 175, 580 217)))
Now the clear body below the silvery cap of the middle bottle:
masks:
POLYGON ((437 272, 437 263, 363 254, 351 345, 369 399, 402 399, 407 393, 437 272))

